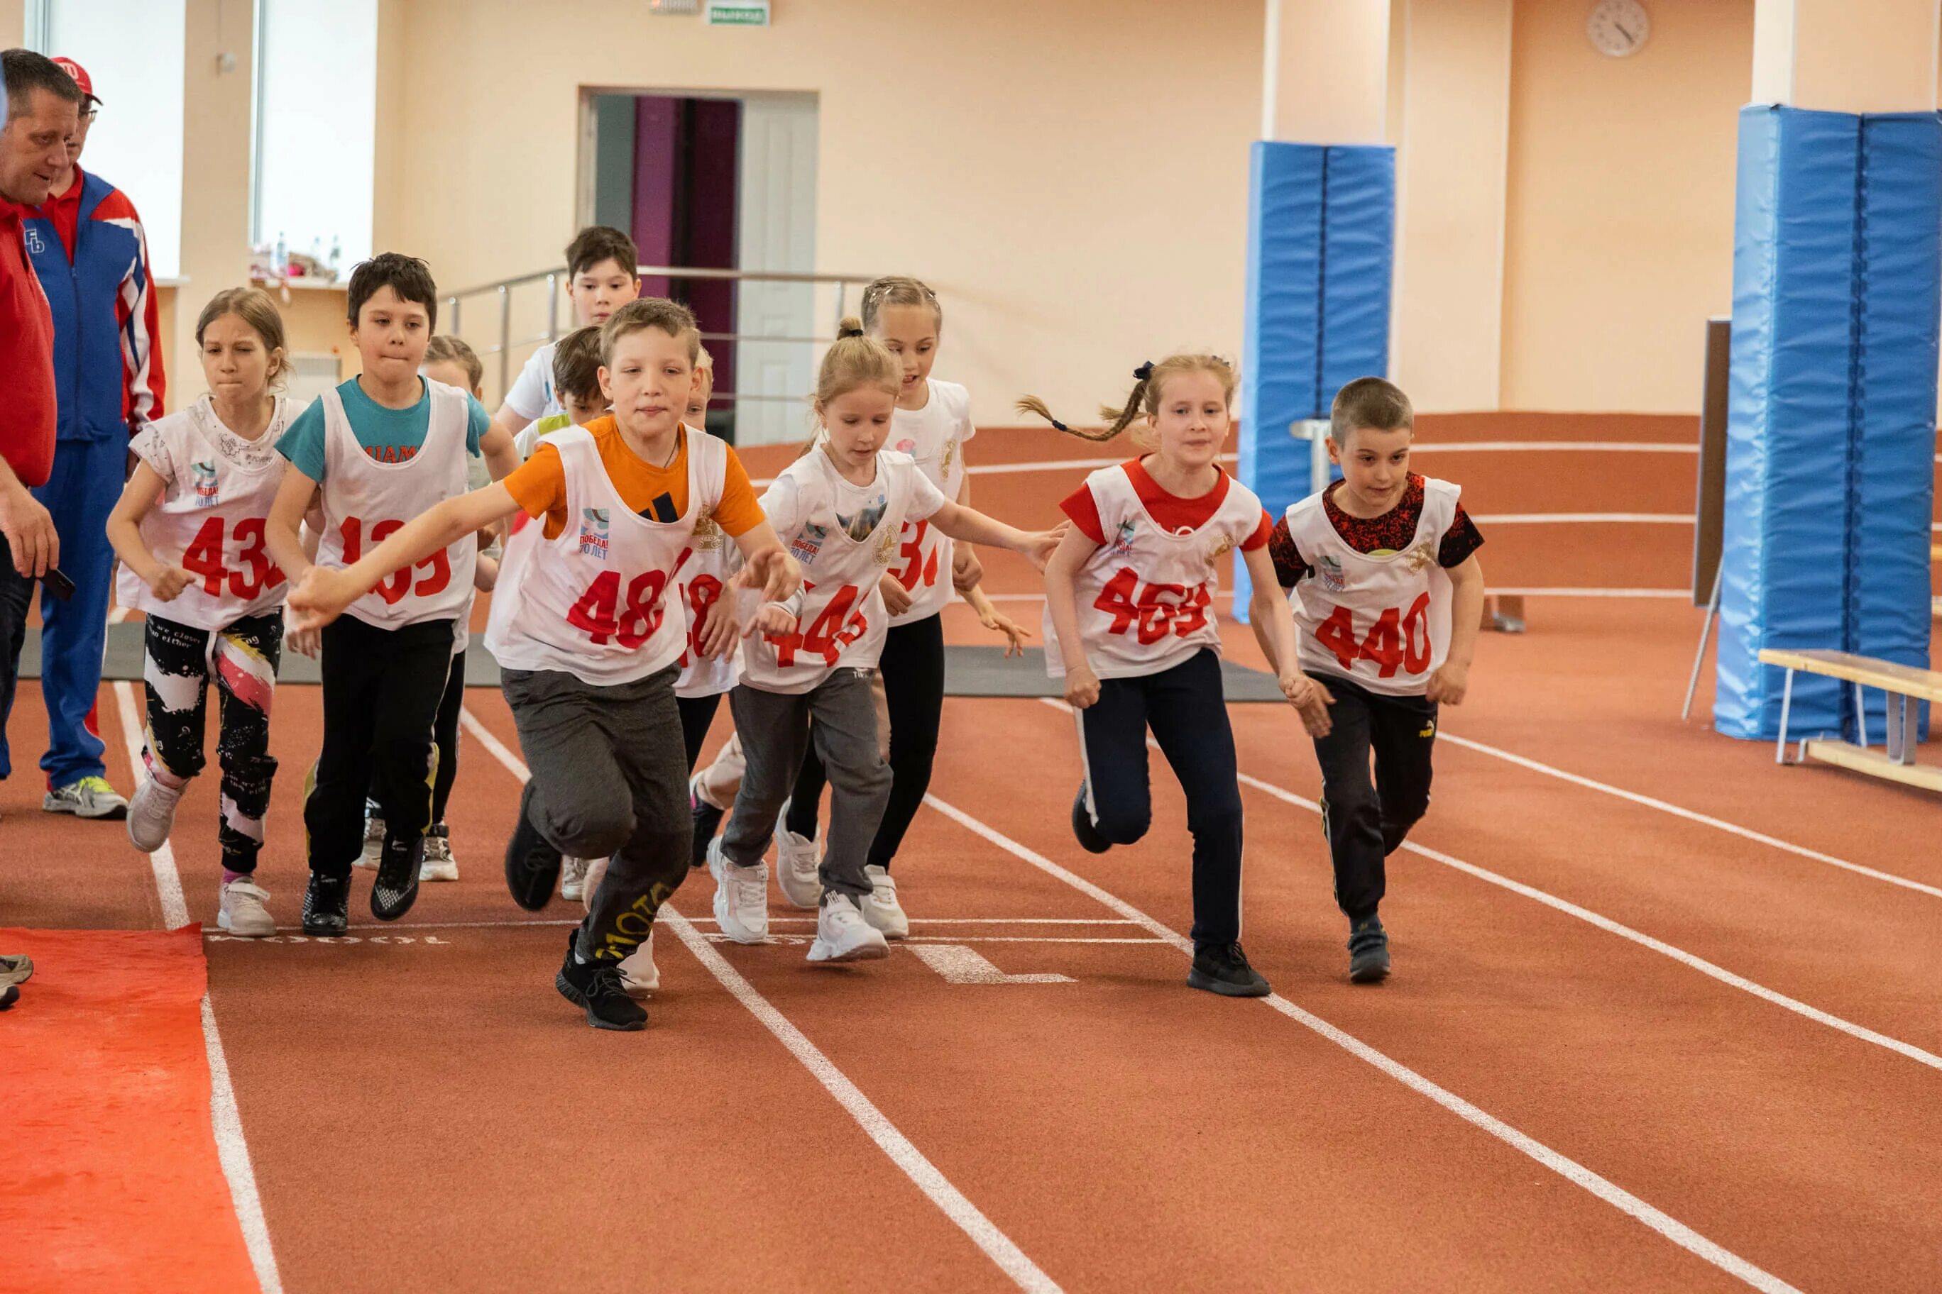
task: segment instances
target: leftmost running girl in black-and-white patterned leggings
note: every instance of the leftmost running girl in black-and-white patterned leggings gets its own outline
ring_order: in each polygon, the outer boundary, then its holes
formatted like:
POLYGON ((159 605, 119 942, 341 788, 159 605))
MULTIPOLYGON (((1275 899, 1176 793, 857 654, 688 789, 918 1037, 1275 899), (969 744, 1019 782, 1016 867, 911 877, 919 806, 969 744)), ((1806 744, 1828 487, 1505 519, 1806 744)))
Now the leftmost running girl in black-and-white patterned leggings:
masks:
POLYGON ((266 293, 231 287, 202 307, 196 349, 208 394, 128 442, 138 462, 107 522, 122 563, 117 599, 146 615, 148 780, 128 803, 128 838, 144 854, 167 844, 183 790, 204 766, 216 683, 223 770, 216 923, 260 939, 276 933, 256 856, 276 776, 270 696, 287 592, 264 541, 284 475, 276 444, 295 417, 278 392, 289 367, 284 320, 266 293))

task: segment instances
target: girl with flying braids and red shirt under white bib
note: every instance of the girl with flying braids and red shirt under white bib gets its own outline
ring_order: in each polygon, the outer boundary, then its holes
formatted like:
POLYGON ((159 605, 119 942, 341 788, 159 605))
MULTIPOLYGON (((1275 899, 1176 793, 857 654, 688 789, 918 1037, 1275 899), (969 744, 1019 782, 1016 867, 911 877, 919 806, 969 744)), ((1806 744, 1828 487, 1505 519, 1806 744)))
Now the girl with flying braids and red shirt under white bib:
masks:
MULTIPOLYGON (((1321 689, 1295 663, 1295 627, 1268 584, 1272 520, 1251 489, 1220 469, 1233 369, 1214 355, 1169 355, 1132 374, 1111 440, 1140 419, 1148 452, 1101 468, 1064 501, 1072 530, 1045 568, 1045 667, 1066 681, 1084 780, 1072 834, 1093 854, 1132 844, 1152 825, 1146 731, 1187 792, 1194 836, 1194 964, 1187 984, 1225 997, 1264 997, 1268 982, 1241 951, 1241 786, 1220 679, 1220 568, 1241 549, 1258 625, 1282 695, 1321 718, 1321 689), (1142 419, 1144 415, 1144 419, 1142 419)), ((1074 433, 1027 396, 1035 413, 1074 433)))

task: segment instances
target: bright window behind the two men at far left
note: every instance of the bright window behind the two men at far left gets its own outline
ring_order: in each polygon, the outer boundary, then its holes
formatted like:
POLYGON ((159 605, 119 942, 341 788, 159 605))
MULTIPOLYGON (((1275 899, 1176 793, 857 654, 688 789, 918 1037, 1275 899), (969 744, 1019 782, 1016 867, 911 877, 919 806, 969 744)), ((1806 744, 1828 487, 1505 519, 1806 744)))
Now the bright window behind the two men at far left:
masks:
POLYGON ((27 43, 87 68, 101 116, 82 169, 128 194, 157 279, 183 272, 183 0, 33 0, 27 43))

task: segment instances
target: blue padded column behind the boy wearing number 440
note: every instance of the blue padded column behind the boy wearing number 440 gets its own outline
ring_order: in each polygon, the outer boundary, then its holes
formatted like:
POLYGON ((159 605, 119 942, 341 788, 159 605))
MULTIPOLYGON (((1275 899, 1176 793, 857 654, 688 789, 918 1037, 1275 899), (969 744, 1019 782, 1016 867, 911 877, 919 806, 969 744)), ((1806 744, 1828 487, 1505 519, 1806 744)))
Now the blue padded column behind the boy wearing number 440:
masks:
MULTIPOLYGON (((1235 475, 1276 518, 1321 487, 1288 425, 1326 417, 1342 382, 1389 372, 1394 225, 1394 149, 1255 144, 1235 475)), ((1241 621, 1249 592, 1235 555, 1241 621)))

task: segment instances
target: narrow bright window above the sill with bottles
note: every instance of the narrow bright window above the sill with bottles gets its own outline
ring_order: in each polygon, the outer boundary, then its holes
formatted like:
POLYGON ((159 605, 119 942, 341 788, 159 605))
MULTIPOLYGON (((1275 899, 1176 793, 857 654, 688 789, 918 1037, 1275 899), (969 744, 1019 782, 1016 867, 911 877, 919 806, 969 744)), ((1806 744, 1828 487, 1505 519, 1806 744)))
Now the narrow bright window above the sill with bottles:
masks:
POLYGON ((375 140, 377 0, 256 0, 251 241, 371 256, 375 140))

